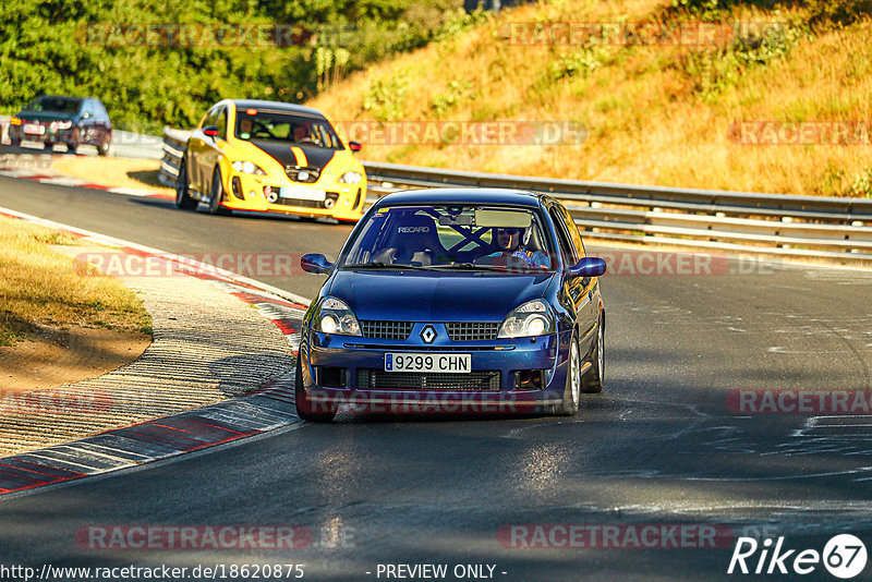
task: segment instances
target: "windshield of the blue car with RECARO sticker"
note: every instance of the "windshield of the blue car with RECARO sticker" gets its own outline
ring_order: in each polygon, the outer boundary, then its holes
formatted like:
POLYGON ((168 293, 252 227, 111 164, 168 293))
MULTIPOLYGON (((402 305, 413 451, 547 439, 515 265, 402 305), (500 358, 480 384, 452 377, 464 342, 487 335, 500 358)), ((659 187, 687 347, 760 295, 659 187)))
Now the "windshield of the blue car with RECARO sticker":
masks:
POLYGON ((538 213, 509 206, 389 206, 339 259, 346 269, 542 271, 553 268, 538 213))

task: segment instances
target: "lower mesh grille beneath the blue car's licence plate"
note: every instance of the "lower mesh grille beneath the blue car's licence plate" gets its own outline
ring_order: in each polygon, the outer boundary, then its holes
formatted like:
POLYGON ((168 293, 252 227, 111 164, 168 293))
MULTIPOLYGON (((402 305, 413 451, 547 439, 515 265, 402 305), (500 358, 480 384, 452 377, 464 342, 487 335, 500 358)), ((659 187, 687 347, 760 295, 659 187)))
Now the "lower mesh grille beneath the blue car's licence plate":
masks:
POLYGON ((499 371, 476 371, 469 374, 432 374, 420 372, 385 372, 358 369, 359 390, 493 390, 500 388, 499 371))

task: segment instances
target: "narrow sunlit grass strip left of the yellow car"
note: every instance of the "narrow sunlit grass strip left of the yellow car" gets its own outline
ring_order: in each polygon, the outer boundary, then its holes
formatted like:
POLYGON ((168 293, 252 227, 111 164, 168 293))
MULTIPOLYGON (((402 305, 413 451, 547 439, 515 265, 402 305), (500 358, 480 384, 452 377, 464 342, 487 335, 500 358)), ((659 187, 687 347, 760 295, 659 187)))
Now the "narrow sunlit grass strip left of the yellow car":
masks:
POLYGON ((51 168, 71 178, 112 187, 133 187, 172 194, 157 181, 160 160, 126 158, 58 157, 51 168))

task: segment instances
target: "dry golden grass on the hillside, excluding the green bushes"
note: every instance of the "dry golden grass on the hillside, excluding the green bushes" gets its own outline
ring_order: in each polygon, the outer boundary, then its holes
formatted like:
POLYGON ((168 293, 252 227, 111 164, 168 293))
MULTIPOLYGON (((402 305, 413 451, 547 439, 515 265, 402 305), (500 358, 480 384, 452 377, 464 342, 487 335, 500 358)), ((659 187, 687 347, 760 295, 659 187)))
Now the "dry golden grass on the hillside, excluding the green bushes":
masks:
MULTIPOLYGON (((594 47, 598 66, 560 76, 552 71, 579 47, 511 45, 501 36, 511 22, 634 22, 662 15, 664 5, 564 0, 505 10, 455 38, 354 74, 307 105, 336 120, 373 121, 379 111, 365 102, 382 83, 401 95, 390 104, 397 120, 568 120, 590 132, 581 144, 547 147, 364 144, 363 157, 373 160, 685 187, 872 192, 870 146, 751 146, 728 137, 738 121, 872 123, 872 21, 814 34, 806 28, 785 56, 737 69, 712 95, 699 90, 701 77, 688 68, 697 58, 719 66, 712 48, 594 47), (440 107, 446 96, 453 102, 440 107)), ((724 21, 801 23, 804 16, 784 5, 739 7, 724 21)))

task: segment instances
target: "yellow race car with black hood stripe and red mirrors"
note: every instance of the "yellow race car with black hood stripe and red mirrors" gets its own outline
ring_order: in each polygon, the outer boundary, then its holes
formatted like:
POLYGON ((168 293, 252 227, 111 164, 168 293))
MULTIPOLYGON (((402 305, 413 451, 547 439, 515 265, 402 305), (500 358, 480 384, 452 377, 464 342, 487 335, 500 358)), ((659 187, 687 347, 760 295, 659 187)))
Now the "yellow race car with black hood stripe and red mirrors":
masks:
POLYGON ((366 173, 324 113, 277 101, 226 99, 187 140, 175 206, 358 220, 366 173))

